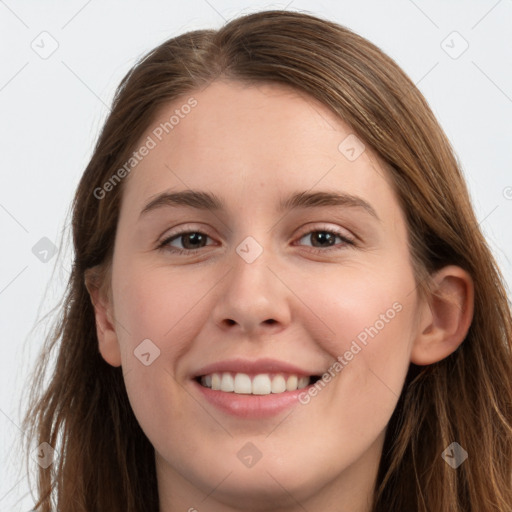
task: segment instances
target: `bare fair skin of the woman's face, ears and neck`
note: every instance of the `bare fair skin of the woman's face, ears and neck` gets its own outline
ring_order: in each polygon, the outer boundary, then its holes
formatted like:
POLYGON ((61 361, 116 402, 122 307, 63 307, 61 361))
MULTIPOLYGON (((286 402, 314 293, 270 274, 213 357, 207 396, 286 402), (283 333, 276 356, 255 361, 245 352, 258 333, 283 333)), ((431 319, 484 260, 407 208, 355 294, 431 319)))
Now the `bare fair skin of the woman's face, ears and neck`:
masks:
MULTIPOLYGON (((352 131, 323 104, 282 85, 227 81, 190 96, 197 106, 124 183, 111 298, 89 284, 100 351, 123 366, 155 447, 160 510, 368 511, 409 363, 441 360, 463 341, 471 279, 445 267, 432 276, 436 296, 420 299, 390 175, 368 145, 354 161, 338 150, 352 131), (186 189, 215 193, 226 210, 140 216, 159 193, 186 189), (359 196, 378 219, 348 206, 277 213, 282 197, 319 190, 359 196), (181 228, 209 238, 196 239, 195 255, 170 252, 194 247, 186 237, 157 248, 181 228), (325 229, 356 245, 336 237, 328 249, 315 236, 325 229), (252 263, 236 252, 247 236, 263 249, 252 263), (324 389, 275 417, 223 413, 190 379, 232 357, 321 374, 396 303, 400 312, 324 389), (160 356, 145 366, 134 350, 147 338, 160 356), (250 468, 237 457, 247 442, 262 454, 250 468)), ((188 97, 166 105, 141 141, 188 97)))

